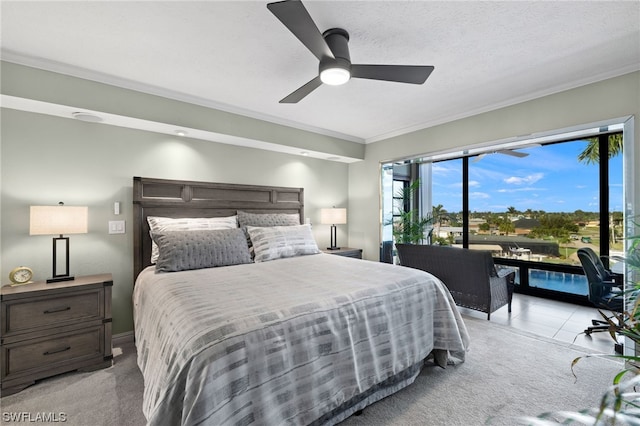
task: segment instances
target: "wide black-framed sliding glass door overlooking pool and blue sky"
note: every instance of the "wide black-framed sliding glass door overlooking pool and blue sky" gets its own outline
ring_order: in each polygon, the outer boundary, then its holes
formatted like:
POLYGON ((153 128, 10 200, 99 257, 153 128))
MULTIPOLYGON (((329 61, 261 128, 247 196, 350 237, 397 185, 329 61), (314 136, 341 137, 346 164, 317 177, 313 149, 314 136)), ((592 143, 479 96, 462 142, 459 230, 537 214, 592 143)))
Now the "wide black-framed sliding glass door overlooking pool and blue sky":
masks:
POLYGON ((586 302, 578 248, 624 250, 621 132, 384 169, 391 180, 421 181, 432 244, 490 250, 496 263, 519 268, 521 292, 586 302))

